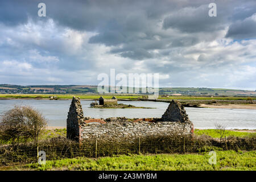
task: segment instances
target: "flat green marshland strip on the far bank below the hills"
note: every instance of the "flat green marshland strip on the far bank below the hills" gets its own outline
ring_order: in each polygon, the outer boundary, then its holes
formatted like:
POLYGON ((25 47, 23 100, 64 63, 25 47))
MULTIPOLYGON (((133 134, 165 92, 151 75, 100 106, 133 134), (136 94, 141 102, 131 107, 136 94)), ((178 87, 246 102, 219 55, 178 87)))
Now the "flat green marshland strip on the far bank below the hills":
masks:
MULTIPOLYGON (((80 97, 81 99, 98 99, 102 94, 0 94, 0 98, 49 98, 49 96, 57 96, 59 99, 72 99, 73 96, 80 97)), ((142 98, 142 95, 138 94, 106 94, 104 98, 112 98, 113 96, 117 99, 137 100, 142 98)), ((256 97, 251 97, 256 100, 256 97)), ((159 97, 160 100, 246 100, 247 97, 196 97, 196 96, 170 96, 170 97, 159 97)))

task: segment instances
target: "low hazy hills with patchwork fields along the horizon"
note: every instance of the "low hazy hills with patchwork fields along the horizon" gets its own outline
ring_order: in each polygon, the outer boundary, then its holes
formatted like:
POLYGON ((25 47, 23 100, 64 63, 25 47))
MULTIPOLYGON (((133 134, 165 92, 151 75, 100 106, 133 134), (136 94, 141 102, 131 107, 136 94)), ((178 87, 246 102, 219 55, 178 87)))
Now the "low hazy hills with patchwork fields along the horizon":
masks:
MULTIPOLYGON (((113 86, 112 86, 113 88, 113 86)), ((128 89, 128 88, 126 88, 128 89)), ((117 93, 118 90, 116 90, 117 93)), ((95 85, 10 85, 0 84, 1 94, 86 94, 98 93, 95 85)), ((256 91, 221 88, 159 88, 160 95, 183 96, 256 96, 256 91)))

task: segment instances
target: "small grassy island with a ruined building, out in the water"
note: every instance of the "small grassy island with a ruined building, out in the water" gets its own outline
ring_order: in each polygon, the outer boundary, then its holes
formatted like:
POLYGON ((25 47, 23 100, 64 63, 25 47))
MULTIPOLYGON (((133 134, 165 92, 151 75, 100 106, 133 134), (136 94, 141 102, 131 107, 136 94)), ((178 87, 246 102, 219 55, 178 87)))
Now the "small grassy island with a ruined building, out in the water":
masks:
POLYGON ((116 97, 112 97, 111 99, 105 99, 103 97, 100 97, 98 101, 99 104, 97 101, 94 101, 90 104, 90 107, 108 109, 155 109, 154 107, 137 107, 130 104, 118 104, 116 97))

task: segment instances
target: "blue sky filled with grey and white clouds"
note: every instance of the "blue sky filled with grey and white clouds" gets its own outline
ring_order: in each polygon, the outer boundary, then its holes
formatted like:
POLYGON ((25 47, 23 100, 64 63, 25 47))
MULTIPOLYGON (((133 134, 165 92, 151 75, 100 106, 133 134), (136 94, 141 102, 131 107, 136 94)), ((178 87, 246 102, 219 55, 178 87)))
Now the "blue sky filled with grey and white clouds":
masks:
POLYGON ((256 1, 0 1, 0 84, 98 85, 112 68, 256 90, 256 1))

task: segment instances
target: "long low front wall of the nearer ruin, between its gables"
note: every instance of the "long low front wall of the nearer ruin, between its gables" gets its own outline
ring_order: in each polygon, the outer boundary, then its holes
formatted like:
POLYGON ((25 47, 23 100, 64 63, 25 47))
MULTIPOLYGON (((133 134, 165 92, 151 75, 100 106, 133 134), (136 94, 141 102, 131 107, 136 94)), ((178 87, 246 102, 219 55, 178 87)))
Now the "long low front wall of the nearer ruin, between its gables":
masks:
POLYGON ((122 139, 150 135, 192 135, 191 122, 133 122, 128 118, 108 118, 106 123, 83 123, 79 140, 90 138, 122 139))

